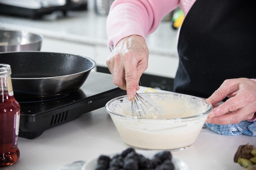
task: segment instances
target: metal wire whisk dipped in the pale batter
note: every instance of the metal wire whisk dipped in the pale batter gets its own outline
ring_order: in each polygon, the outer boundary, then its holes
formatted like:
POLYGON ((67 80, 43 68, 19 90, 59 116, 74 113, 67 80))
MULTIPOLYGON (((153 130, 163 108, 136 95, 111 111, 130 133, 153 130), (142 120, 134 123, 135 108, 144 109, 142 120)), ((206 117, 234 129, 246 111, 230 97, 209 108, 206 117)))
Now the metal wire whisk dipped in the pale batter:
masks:
POLYGON ((132 100, 131 113, 132 116, 137 116, 138 118, 159 118, 157 109, 138 93, 136 93, 134 100, 132 100))

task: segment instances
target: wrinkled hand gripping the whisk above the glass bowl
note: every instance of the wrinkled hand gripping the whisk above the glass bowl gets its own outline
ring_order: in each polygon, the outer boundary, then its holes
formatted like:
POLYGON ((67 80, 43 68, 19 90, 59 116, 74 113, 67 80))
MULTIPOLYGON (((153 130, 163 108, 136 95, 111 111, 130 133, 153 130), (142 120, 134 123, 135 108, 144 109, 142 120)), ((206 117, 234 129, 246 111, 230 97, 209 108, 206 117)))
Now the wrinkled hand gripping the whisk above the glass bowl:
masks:
POLYGON ((128 99, 132 100, 139 90, 139 79, 148 67, 148 47, 144 38, 131 35, 120 40, 106 64, 113 83, 126 90, 128 99))

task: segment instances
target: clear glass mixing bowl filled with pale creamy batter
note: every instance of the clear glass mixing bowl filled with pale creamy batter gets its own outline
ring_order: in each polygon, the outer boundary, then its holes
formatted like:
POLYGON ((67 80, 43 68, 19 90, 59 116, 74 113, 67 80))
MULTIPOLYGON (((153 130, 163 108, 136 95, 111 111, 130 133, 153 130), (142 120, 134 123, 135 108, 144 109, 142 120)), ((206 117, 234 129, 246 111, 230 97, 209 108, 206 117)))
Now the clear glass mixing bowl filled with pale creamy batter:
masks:
MULTIPOLYGON (((132 116, 127 95, 110 100, 105 108, 121 139, 128 146, 145 150, 183 150, 197 139, 213 106, 200 97, 180 93, 139 94, 160 116, 132 116)), ((147 109, 147 108, 146 108, 147 109)), ((148 114, 148 113, 147 113, 148 114)))

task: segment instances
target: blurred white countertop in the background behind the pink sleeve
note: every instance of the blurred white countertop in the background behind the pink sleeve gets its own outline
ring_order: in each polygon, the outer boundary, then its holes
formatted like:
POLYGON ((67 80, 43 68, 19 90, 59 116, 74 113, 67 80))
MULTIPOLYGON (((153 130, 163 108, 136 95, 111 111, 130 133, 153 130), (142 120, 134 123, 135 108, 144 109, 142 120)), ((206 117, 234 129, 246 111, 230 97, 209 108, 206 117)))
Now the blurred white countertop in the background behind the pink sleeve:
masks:
MULTIPOLYGON (((106 15, 97 15, 93 10, 67 11, 66 17, 58 13, 46 15, 41 20, 0 15, 0 29, 26 30, 45 37, 106 46, 106 15)), ((171 22, 161 22, 158 29, 147 39, 151 53, 177 57, 177 30, 171 22)))

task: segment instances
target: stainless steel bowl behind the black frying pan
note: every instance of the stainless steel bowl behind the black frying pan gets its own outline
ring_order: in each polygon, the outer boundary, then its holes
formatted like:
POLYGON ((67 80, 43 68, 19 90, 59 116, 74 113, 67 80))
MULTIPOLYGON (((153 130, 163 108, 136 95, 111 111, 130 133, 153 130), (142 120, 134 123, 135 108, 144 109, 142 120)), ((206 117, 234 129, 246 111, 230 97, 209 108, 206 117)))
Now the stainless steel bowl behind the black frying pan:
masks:
POLYGON ((0 52, 40 51, 43 36, 27 31, 0 30, 0 52))

